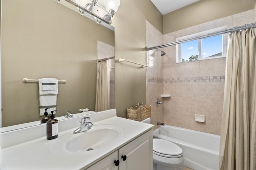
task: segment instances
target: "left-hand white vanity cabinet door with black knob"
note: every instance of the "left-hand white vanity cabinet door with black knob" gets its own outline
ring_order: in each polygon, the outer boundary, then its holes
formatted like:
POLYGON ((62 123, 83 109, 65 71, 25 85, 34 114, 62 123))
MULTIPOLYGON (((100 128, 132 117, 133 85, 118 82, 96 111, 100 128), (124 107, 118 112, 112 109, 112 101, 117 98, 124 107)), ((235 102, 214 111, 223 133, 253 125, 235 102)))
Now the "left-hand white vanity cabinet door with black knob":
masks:
POLYGON ((118 151, 108 155, 99 162, 96 162, 86 170, 118 170, 118 166, 114 164, 114 161, 118 158, 118 151))

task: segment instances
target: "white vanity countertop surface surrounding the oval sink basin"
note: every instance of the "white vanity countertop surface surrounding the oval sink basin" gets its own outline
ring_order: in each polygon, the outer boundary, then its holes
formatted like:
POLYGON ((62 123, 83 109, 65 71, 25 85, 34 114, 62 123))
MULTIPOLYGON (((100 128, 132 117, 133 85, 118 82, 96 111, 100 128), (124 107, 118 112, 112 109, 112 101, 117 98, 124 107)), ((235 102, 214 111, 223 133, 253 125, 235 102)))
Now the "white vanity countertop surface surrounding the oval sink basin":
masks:
MULTIPOLYGON (((59 137, 57 139, 47 140, 46 136, 41 135, 41 137, 30 140, 30 141, 24 141, 23 139, 21 140, 22 142, 18 144, 12 144, 10 146, 8 145, 8 143, 6 143, 6 141, 2 141, 2 145, 1 145, 1 141, 0 141, 1 147, 3 146, 1 150, 1 157, 5 162, 5 166, 7 170, 85 169, 91 166, 92 164, 94 164, 95 162, 98 162, 98 160, 104 158, 108 154, 111 154, 115 150, 126 145, 136 137, 149 131, 154 126, 147 123, 141 123, 138 121, 132 121, 132 120, 124 119, 121 117, 116 117, 116 115, 113 114, 113 111, 116 111, 116 109, 105 111, 106 114, 103 114, 104 113, 103 111, 103 112, 99 112, 100 114, 94 113, 90 115, 91 117, 90 121, 94 123, 95 126, 102 125, 102 124, 117 125, 122 127, 125 130, 124 136, 122 138, 100 149, 90 150, 86 152, 70 152, 68 150, 66 151, 63 150, 63 152, 56 152, 56 150, 51 148, 54 143, 58 142, 58 140, 61 140, 61 137, 63 135, 73 132, 75 129, 77 129, 78 128, 77 125, 72 129, 64 128, 64 130, 62 131, 59 130, 60 131, 59 137), (107 116, 108 112, 112 112, 112 113, 110 113, 110 115, 107 116), (99 116, 103 117, 104 119, 100 119, 99 116), (94 121, 94 120, 97 120, 97 121, 94 121)), ((65 122, 63 121, 59 123, 62 123, 62 125, 63 124, 65 125, 68 123, 68 121, 65 121, 65 122)), ((59 129, 60 128, 62 129, 62 125, 59 124, 59 129)), ((43 127, 42 129, 44 128, 45 127, 43 127)), ((82 133, 86 133, 86 132, 82 132, 82 133)), ((74 135, 77 135, 77 134, 74 134, 74 135)), ((0 134, 0 137, 1 137, 1 134, 0 134)), ((15 139, 12 139, 12 140, 15 140, 15 139)))

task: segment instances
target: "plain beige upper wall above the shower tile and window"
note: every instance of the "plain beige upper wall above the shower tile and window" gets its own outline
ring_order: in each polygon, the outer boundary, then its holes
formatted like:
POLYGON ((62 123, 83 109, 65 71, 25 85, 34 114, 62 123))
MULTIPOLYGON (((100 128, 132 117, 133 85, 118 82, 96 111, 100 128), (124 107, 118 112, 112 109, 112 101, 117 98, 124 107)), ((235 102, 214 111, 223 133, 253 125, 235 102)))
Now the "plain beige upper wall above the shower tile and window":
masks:
POLYGON ((163 33, 170 33, 251 10, 254 8, 254 4, 255 0, 200 0, 164 15, 163 33))

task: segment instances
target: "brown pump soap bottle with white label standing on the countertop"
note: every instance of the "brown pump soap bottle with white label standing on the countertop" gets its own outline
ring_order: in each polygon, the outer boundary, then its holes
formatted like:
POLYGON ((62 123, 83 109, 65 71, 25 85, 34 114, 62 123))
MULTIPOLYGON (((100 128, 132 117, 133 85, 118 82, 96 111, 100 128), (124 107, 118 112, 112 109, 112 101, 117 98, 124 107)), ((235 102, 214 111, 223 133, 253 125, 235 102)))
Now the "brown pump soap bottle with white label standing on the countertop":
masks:
POLYGON ((50 119, 46 123, 46 138, 48 140, 55 139, 58 137, 59 127, 58 127, 58 120, 54 119, 53 112, 57 110, 51 111, 52 115, 50 119))

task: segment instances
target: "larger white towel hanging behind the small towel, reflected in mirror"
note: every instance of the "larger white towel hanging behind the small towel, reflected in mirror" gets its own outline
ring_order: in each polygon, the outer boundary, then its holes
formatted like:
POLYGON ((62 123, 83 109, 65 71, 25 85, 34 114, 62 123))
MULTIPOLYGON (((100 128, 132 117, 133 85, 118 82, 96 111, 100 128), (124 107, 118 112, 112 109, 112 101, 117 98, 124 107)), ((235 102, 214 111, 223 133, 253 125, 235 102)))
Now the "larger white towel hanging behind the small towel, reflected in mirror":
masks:
POLYGON ((49 108, 47 110, 50 115, 53 110, 56 110, 57 104, 57 94, 58 94, 58 80, 55 80, 56 88, 55 90, 43 90, 42 87, 42 79, 38 79, 39 84, 39 111, 40 115, 44 115, 45 108, 49 108))

